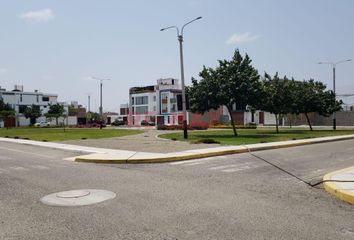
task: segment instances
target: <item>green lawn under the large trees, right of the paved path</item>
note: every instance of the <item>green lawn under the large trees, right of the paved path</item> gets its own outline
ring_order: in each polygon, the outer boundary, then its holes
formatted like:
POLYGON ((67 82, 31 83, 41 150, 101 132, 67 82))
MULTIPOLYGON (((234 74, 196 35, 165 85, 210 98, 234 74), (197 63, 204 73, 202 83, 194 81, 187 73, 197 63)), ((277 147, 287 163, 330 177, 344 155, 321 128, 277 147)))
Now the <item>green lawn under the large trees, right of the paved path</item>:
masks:
POLYGON ((276 133, 273 129, 237 129, 238 136, 234 137, 232 129, 209 130, 209 131, 189 131, 188 140, 183 138, 183 131, 178 133, 168 133, 159 135, 161 138, 178 141, 197 142, 203 139, 213 139, 225 145, 242 145, 252 143, 277 142, 285 140, 296 140, 305 138, 335 136, 354 134, 354 130, 299 130, 280 129, 276 133))

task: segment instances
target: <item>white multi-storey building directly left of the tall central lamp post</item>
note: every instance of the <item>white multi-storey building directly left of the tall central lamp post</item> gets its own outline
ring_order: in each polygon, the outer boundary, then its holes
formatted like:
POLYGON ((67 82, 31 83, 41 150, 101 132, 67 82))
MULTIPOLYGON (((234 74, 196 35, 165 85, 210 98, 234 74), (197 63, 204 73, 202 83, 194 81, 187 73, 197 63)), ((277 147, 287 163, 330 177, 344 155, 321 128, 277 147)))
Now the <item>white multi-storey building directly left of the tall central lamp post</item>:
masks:
POLYGON ((178 98, 182 88, 178 79, 158 79, 156 85, 129 89, 130 126, 142 121, 159 125, 178 125, 182 121, 182 106, 178 98))

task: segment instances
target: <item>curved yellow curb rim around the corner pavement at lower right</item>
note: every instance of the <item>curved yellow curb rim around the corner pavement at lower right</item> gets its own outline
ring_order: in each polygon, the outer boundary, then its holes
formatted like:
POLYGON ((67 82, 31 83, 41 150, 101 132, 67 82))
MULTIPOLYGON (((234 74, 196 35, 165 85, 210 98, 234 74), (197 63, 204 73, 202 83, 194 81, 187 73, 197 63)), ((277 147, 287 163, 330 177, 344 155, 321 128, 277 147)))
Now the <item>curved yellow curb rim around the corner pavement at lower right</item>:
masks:
POLYGON ((338 189, 338 187, 335 185, 335 183, 326 182, 326 181, 332 180, 332 176, 335 174, 344 173, 344 172, 350 171, 352 169, 354 169, 354 166, 328 173, 323 177, 323 181, 325 181, 323 183, 325 190, 327 192, 329 192, 330 194, 336 196, 337 198, 341 199, 342 201, 348 202, 350 204, 354 204, 354 193, 349 192, 345 189, 338 189))

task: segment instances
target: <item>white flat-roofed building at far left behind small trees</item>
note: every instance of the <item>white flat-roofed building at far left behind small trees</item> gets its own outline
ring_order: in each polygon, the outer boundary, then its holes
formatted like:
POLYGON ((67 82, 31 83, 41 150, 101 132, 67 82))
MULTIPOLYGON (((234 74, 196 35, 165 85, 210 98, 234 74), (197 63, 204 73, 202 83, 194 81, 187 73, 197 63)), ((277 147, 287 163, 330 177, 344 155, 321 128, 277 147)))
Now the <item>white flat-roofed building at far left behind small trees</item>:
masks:
MULTIPOLYGON (((17 126, 28 126, 30 124, 30 119, 24 117, 25 109, 28 106, 39 106, 43 117, 38 118, 37 121, 41 121, 45 120, 44 114, 48 112, 49 105, 58 103, 57 94, 42 93, 38 90, 35 90, 34 92, 24 92, 22 85, 15 85, 15 88, 12 91, 6 91, 6 89, 0 88, 0 99, 15 110, 17 126)), ((68 105, 63 105, 67 112, 68 105)))

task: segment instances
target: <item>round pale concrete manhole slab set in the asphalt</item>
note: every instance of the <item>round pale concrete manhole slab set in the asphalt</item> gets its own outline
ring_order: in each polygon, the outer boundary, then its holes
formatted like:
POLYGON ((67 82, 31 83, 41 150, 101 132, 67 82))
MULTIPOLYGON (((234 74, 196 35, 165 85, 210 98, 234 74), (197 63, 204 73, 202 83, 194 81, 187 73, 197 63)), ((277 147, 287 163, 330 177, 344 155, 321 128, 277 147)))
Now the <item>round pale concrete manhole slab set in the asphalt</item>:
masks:
POLYGON ((100 189, 79 189, 52 193, 41 198, 41 202, 50 206, 85 206, 100 203, 116 197, 111 191, 100 189))

